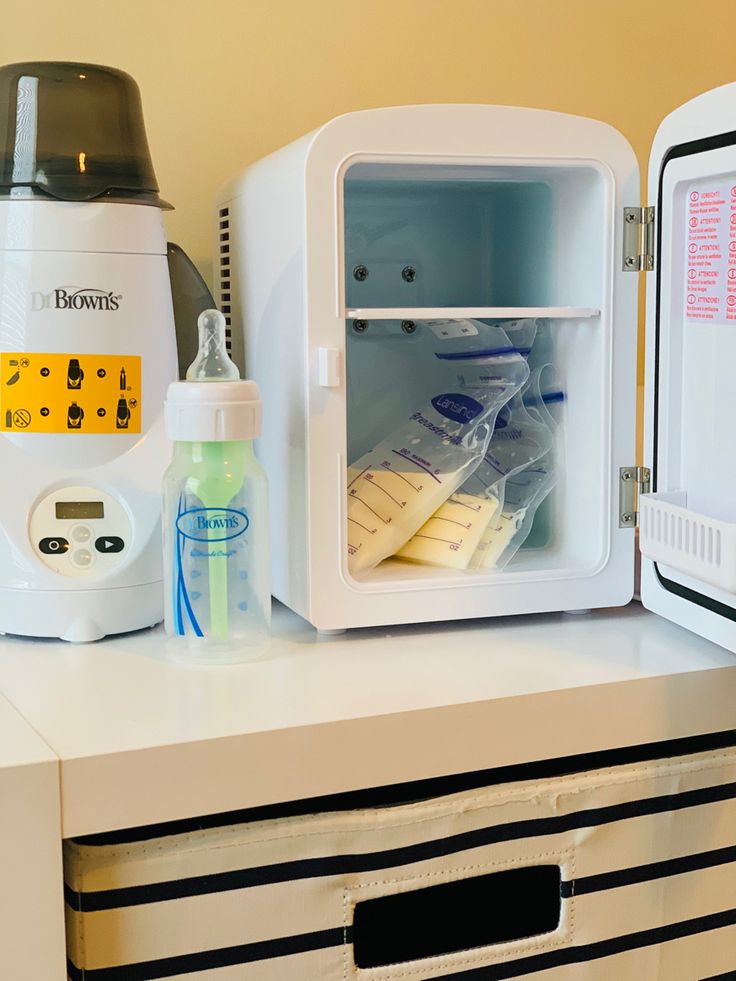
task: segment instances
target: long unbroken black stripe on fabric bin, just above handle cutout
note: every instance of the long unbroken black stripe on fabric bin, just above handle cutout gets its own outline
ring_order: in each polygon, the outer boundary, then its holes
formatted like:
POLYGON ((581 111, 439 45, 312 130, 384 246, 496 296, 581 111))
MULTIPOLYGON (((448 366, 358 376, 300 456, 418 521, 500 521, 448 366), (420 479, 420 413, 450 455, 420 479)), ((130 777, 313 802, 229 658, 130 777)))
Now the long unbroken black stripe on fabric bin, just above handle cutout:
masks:
POLYGON ((649 797, 642 800, 626 801, 621 804, 610 804, 606 807, 590 808, 572 814, 513 821, 509 824, 465 831, 461 834, 450 835, 447 838, 417 842, 413 845, 391 848, 382 852, 298 859, 292 862, 281 862, 277 865, 264 865, 233 872, 215 872, 209 875, 192 876, 187 879, 146 883, 140 886, 125 886, 120 889, 103 889, 95 892, 77 892, 65 885, 65 896, 72 909, 80 913, 91 913, 123 906, 166 902, 172 899, 182 899, 185 896, 228 892, 233 889, 249 889, 254 886, 265 886, 297 879, 314 879, 356 872, 376 872, 400 865, 411 865, 414 862, 440 858, 456 852, 469 851, 473 848, 482 848, 502 841, 561 834, 579 828, 590 828, 630 818, 733 800, 735 797, 736 783, 721 784, 716 787, 686 790, 679 794, 668 794, 664 797, 649 797))

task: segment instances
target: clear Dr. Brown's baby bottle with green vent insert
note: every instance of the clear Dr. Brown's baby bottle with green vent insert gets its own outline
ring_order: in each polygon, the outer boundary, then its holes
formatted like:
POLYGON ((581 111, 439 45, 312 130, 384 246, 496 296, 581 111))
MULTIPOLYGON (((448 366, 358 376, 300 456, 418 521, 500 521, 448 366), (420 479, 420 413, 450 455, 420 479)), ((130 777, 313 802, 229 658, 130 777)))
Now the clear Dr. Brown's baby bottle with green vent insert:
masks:
POLYGON ((165 627, 175 656, 231 663, 270 633, 267 485, 253 452, 262 408, 227 353, 223 315, 206 310, 198 328, 187 380, 166 396, 165 627))

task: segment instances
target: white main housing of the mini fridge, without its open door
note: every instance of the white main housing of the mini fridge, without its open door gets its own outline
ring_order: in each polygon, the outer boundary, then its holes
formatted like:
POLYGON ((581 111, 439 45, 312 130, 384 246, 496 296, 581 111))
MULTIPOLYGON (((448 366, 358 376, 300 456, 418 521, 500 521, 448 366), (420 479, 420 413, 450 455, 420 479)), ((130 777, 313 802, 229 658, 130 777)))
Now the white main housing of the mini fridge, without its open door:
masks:
MULTIPOLYGON (((620 271, 620 216, 638 197, 635 157, 611 127, 495 106, 342 116, 223 191, 221 295, 233 330, 245 331, 246 374, 264 400, 258 452, 278 599, 318 628, 340 629, 631 598, 634 543, 618 526, 618 471, 634 456, 637 277, 620 271), (356 229, 376 209, 388 213, 394 193, 403 195, 401 228, 381 253, 356 229), (361 292, 352 268, 366 254, 361 292), (396 273, 409 262, 419 275, 403 288, 396 273), (345 367, 356 345, 346 320, 400 317, 402 308, 412 318, 428 308, 451 316, 448 307, 552 318, 567 395, 553 540, 501 573, 388 561, 355 579, 346 563, 345 367)), ((390 362, 381 372, 386 388, 414 384, 390 362)), ((366 419, 380 427, 385 412, 371 405, 366 419)))

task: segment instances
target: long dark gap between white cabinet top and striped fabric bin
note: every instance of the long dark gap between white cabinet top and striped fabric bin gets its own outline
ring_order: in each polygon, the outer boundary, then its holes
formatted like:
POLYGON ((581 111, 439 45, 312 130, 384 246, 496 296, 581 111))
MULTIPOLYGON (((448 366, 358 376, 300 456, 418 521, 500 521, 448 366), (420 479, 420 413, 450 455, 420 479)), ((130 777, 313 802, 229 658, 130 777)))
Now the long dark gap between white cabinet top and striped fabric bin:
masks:
MULTIPOLYGON (((396 628, 400 630, 401 628, 396 628)), ((434 797, 445 797, 467 790, 496 787, 503 783, 517 783, 530 780, 548 780, 554 777, 586 773, 590 770, 608 769, 613 766, 627 766, 634 763, 647 763, 666 760, 678 756, 709 753, 719 749, 736 746, 736 730, 709 732, 701 736, 687 736, 679 739, 665 739, 657 743, 644 743, 638 746, 624 746, 618 749, 597 750, 594 753, 578 753, 574 756, 556 757, 549 760, 535 760, 529 763, 514 763, 509 766, 489 770, 476 770, 471 773, 455 773, 444 777, 429 777, 408 783, 389 784, 384 787, 370 787, 347 791, 340 794, 326 794, 303 800, 285 801, 279 804, 266 804, 261 807, 244 808, 239 811, 225 811, 218 814, 205 814, 196 818, 180 818, 159 824, 124 828, 121 831, 107 831, 96 835, 82 835, 71 839, 88 847, 106 845, 127 845, 135 841, 150 841, 167 835, 188 834, 192 831, 205 831, 208 828, 222 828, 230 824, 243 824, 252 821, 271 821, 304 814, 320 814, 330 811, 353 811, 358 809, 397 807, 401 804, 416 803, 434 797)))

